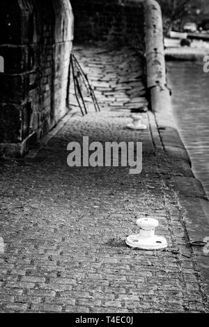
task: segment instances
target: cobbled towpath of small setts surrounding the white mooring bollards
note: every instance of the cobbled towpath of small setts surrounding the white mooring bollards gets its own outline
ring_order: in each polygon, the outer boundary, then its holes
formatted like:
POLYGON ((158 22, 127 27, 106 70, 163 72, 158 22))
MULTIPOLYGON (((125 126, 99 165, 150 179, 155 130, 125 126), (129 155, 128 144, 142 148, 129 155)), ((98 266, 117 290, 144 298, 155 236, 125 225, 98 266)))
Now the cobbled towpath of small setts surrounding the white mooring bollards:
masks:
MULTIPOLYGON (((92 51, 85 50, 84 66, 88 56, 94 65, 92 51)), ((107 70, 112 60, 111 52, 102 56, 107 70)), ((137 56, 123 49, 117 60, 123 65, 132 61, 133 70, 127 71, 132 80, 134 67, 136 75, 140 68, 137 56)), ((114 80, 120 71, 119 66, 111 67, 114 80)), ((109 95, 105 91, 105 99, 99 97, 106 105, 106 97, 112 99, 109 110, 84 118, 75 115, 35 158, 1 160, 0 228, 6 243, 0 255, 1 312, 208 310, 153 114, 143 113, 148 130, 127 129, 130 113, 118 111, 123 101, 113 106, 119 102, 120 86, 122 90, 123 81, 118 82, 117 101, 115 88, 109 95), (82 142, 82 136, 101 142, 142 141, 143 172, 68 167, 67 145, 82 142), (157 233, 167 237, 169 248, 142 251, 125 246, 127 235, 137 232, 136 219, 144 216, 160 221, 157 233)), ((104 85, 100 87, 96 81, 98 95, 104 95, 104 85)))

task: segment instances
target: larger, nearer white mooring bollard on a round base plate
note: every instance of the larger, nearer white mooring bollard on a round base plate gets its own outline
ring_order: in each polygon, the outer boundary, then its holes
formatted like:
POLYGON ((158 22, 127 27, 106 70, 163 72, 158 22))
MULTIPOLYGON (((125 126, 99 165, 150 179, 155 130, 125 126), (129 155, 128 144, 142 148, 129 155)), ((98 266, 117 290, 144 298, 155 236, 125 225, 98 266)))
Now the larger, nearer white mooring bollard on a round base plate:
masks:
POLYGON ((127 237, 127 246, 131 248, 140 248, 142 250, 160 250, 162 248, 167 248, 167 239, 155 235, 155 228, 158 224, 158 221, 153 218, 137 219, 140 232, 139 234, 127 237))

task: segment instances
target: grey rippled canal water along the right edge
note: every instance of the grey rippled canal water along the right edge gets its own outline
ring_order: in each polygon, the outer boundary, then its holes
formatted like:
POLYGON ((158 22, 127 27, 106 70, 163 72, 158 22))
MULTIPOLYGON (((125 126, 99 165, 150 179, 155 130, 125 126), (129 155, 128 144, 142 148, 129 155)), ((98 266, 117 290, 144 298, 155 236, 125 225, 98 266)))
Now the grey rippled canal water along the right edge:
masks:
POLYGON ((178 131, 209 197, 209 73, 201 62, 169 61, 167 70, 178 131))

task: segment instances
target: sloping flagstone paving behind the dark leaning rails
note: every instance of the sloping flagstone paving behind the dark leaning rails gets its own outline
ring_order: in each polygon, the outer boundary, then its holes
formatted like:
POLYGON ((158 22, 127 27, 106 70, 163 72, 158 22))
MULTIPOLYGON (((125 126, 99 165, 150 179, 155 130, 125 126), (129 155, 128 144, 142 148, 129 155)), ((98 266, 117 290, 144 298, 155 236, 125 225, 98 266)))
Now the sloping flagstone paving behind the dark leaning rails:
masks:
MULTIPOLYGON (((147 110, 144 57, 140 53, 128 47, 114 47, 107 51, 104 47, 88 46, 75 47, 74 54, 91 81, 101 109, 147 110)), ((91 112, 94 110, 91 97, 86 94, 82 79, 79 81, 83 86, 88 112, 91 112)), ((71 86, 70 105, 77 107, 73 83, 71 86)))

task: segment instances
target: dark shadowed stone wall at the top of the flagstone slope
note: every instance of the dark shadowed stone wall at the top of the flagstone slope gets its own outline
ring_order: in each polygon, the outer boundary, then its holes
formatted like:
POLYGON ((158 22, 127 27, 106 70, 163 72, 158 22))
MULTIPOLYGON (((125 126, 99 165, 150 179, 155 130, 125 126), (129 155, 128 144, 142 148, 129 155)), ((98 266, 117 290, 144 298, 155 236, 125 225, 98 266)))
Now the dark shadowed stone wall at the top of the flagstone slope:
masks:
POLYGON ((71 0, 75 42, 113 41, 141 46, 144 33, 140 0, 71 0))

